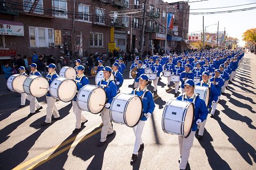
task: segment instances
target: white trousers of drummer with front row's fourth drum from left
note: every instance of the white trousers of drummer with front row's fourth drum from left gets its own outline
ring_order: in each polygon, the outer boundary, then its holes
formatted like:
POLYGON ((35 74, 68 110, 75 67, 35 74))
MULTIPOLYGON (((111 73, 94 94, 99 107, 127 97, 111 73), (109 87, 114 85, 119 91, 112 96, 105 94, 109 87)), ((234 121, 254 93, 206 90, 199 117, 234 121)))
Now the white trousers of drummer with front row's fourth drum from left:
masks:
POLYGON ((104 142, 106 141, 106 135, 114 133, 114 130, 110 123, 110 109, 104 107, 100 115, 103 123, 100 134, 100 141, 104 142))

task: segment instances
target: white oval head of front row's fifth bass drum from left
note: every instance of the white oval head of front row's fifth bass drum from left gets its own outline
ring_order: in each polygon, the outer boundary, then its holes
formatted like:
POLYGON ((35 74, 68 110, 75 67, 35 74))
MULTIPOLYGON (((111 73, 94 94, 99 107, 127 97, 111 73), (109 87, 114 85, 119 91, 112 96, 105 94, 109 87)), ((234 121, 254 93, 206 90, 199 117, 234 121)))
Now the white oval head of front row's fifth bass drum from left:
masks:
POLYGON ((127 126, 134 127, 139 122, 139 119, 141 117, 141 111, 141 100, 139 96, 134 96, 132 100, 129 102, 125 112, 127 126))

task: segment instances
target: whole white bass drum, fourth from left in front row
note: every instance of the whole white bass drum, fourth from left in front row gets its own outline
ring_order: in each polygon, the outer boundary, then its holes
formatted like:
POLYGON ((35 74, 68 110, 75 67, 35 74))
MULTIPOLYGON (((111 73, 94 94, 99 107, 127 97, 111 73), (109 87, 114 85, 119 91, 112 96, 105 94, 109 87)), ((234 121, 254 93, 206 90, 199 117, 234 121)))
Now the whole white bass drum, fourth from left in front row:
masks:
POLYGON ((106 103, 106 92, 103 88, 93 85, 83 86, 76 99, 79 109, 97 114, 101 112, 106 103))

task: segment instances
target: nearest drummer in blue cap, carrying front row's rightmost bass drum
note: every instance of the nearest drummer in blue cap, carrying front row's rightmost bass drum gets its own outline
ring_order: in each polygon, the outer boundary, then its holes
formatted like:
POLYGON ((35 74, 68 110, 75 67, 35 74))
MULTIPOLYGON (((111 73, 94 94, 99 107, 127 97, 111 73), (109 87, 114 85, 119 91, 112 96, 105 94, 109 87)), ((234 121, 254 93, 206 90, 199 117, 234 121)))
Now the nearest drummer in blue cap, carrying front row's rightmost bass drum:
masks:
POLYGON ((194 136, 196 134, 197 125, 202 123, 206 119, 208 114, 208 110, 205 105, 205 102, 194 91, 195 83, 193 79, 187 79, 184 82, 183 86, 185 87, 185 93, 178 96, 177 100, 193 102, 195 105, 195 116, 194 116, 194 122, 193 122, 193 126, 189 136, 187 138, 178 136, 179 148, 180 148, 180 159, 179 159, 180 169, 186 168, 190 149, 193 145, 194 136))

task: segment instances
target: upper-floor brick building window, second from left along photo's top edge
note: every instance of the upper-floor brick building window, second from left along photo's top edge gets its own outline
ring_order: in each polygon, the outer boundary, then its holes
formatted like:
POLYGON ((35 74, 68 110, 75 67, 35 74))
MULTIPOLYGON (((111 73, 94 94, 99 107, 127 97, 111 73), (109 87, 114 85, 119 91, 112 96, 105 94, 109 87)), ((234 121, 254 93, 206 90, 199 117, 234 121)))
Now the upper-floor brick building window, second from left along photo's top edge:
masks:
POLYGON ((52 0, 53 15, 57 17, 67 18, 68 4, 67 0, 52 0), (56 12, 58 11, 58 12, 56 12))

